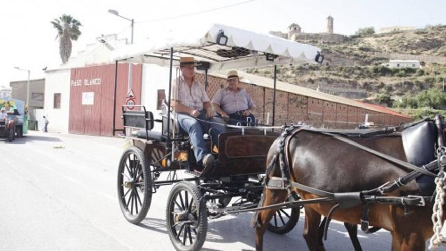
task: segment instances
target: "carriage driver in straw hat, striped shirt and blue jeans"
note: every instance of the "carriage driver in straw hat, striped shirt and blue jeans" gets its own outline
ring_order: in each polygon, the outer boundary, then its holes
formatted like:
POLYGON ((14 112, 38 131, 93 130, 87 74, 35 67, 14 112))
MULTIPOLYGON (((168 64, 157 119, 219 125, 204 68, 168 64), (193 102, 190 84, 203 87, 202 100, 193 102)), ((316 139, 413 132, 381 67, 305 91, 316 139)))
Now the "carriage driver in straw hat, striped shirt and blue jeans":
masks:
POLYGON ((189 134, 197 163, 207 166, 214 161, 214 157, 206 147, 203 134, 211 129, 212 142, 218 145, 218 135, 225 131, 225 124, 221 119, 214 118, 215 112, 206 91, 195 81, 194 63, 193 57, 180 59, 181 75, 178 83, 173 85, 171 101, 178 113, 180 127, 189 134))

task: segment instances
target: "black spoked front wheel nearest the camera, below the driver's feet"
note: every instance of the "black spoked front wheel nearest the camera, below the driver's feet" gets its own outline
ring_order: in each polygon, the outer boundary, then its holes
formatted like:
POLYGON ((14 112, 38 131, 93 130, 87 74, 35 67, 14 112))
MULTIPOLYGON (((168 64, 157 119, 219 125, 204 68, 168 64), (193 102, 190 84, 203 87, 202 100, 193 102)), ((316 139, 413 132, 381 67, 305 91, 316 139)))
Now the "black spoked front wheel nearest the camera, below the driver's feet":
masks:
POLYGON ((178 251, 200 250, 206 240, 206 201, 193 183, 179 182, 167 199, 166 221, 170 241, 178 251))

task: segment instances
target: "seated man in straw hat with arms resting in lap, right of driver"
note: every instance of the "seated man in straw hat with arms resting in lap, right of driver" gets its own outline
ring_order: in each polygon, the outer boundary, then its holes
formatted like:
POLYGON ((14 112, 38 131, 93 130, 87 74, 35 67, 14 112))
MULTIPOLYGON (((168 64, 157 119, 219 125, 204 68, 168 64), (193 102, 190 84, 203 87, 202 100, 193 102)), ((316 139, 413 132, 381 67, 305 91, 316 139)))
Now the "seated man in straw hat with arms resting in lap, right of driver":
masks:
POLYGON ((229 118, 228 124, 236 125, 240 122, 246 125, 246 118, 251 118, 251 123, 254 124, 252 111, 255 110, 255 104, 246 90, 239 87, 239 79, 237 71, 228 72, 228 87, 215 93, 212 107, 221 117, 229 118))

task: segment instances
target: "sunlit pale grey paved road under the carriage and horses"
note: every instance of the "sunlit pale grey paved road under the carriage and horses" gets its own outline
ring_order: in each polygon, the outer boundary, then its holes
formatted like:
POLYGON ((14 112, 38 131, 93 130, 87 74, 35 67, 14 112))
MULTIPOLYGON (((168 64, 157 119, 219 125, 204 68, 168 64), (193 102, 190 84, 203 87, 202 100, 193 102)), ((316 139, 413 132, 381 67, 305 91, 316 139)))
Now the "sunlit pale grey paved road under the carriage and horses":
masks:
MULTIPOLYGON (((128 223, 116 195, 118 138, 31 131, 12 144, 0 140, 0 250, 172 250, 165 225, 170 186, 152 197, 146 219, 128 223)), ((254 250, 252 214, 209 222, 203 250, 254 250)), ((303 219, 287 235, 265 235, 265 250, 307 250, 303 219)), ((390 234, 360 233, 364 250, 390 250, 390 234)), ((328 250, 353 250, 339 222, 328 250)))

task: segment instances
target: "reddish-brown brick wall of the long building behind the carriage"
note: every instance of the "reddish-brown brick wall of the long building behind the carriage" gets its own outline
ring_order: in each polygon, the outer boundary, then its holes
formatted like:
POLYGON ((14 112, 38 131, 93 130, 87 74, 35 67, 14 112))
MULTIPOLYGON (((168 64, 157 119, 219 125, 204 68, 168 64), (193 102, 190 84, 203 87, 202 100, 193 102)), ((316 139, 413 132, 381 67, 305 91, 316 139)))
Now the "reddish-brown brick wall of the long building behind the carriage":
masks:
MULTIPOLYGON (((204 75, 197 73, 196 79, 204 83, 204 75)), ((208 76, 207 93, 210 99, 216 91, 227 86, 225 78, 208 76)), ((273 90, 241 82, 240 87, 251 95, 257 110, 256 119, 261 124, 272 124, 273 90)), ((399 116, 361 109, 345 104, 334 103, 284 91, 276 91, 275 125, 304 122, 314 127, 354 129, 364 123, 365 114, 377 127, 395 126, 410 119, 399 116)))

